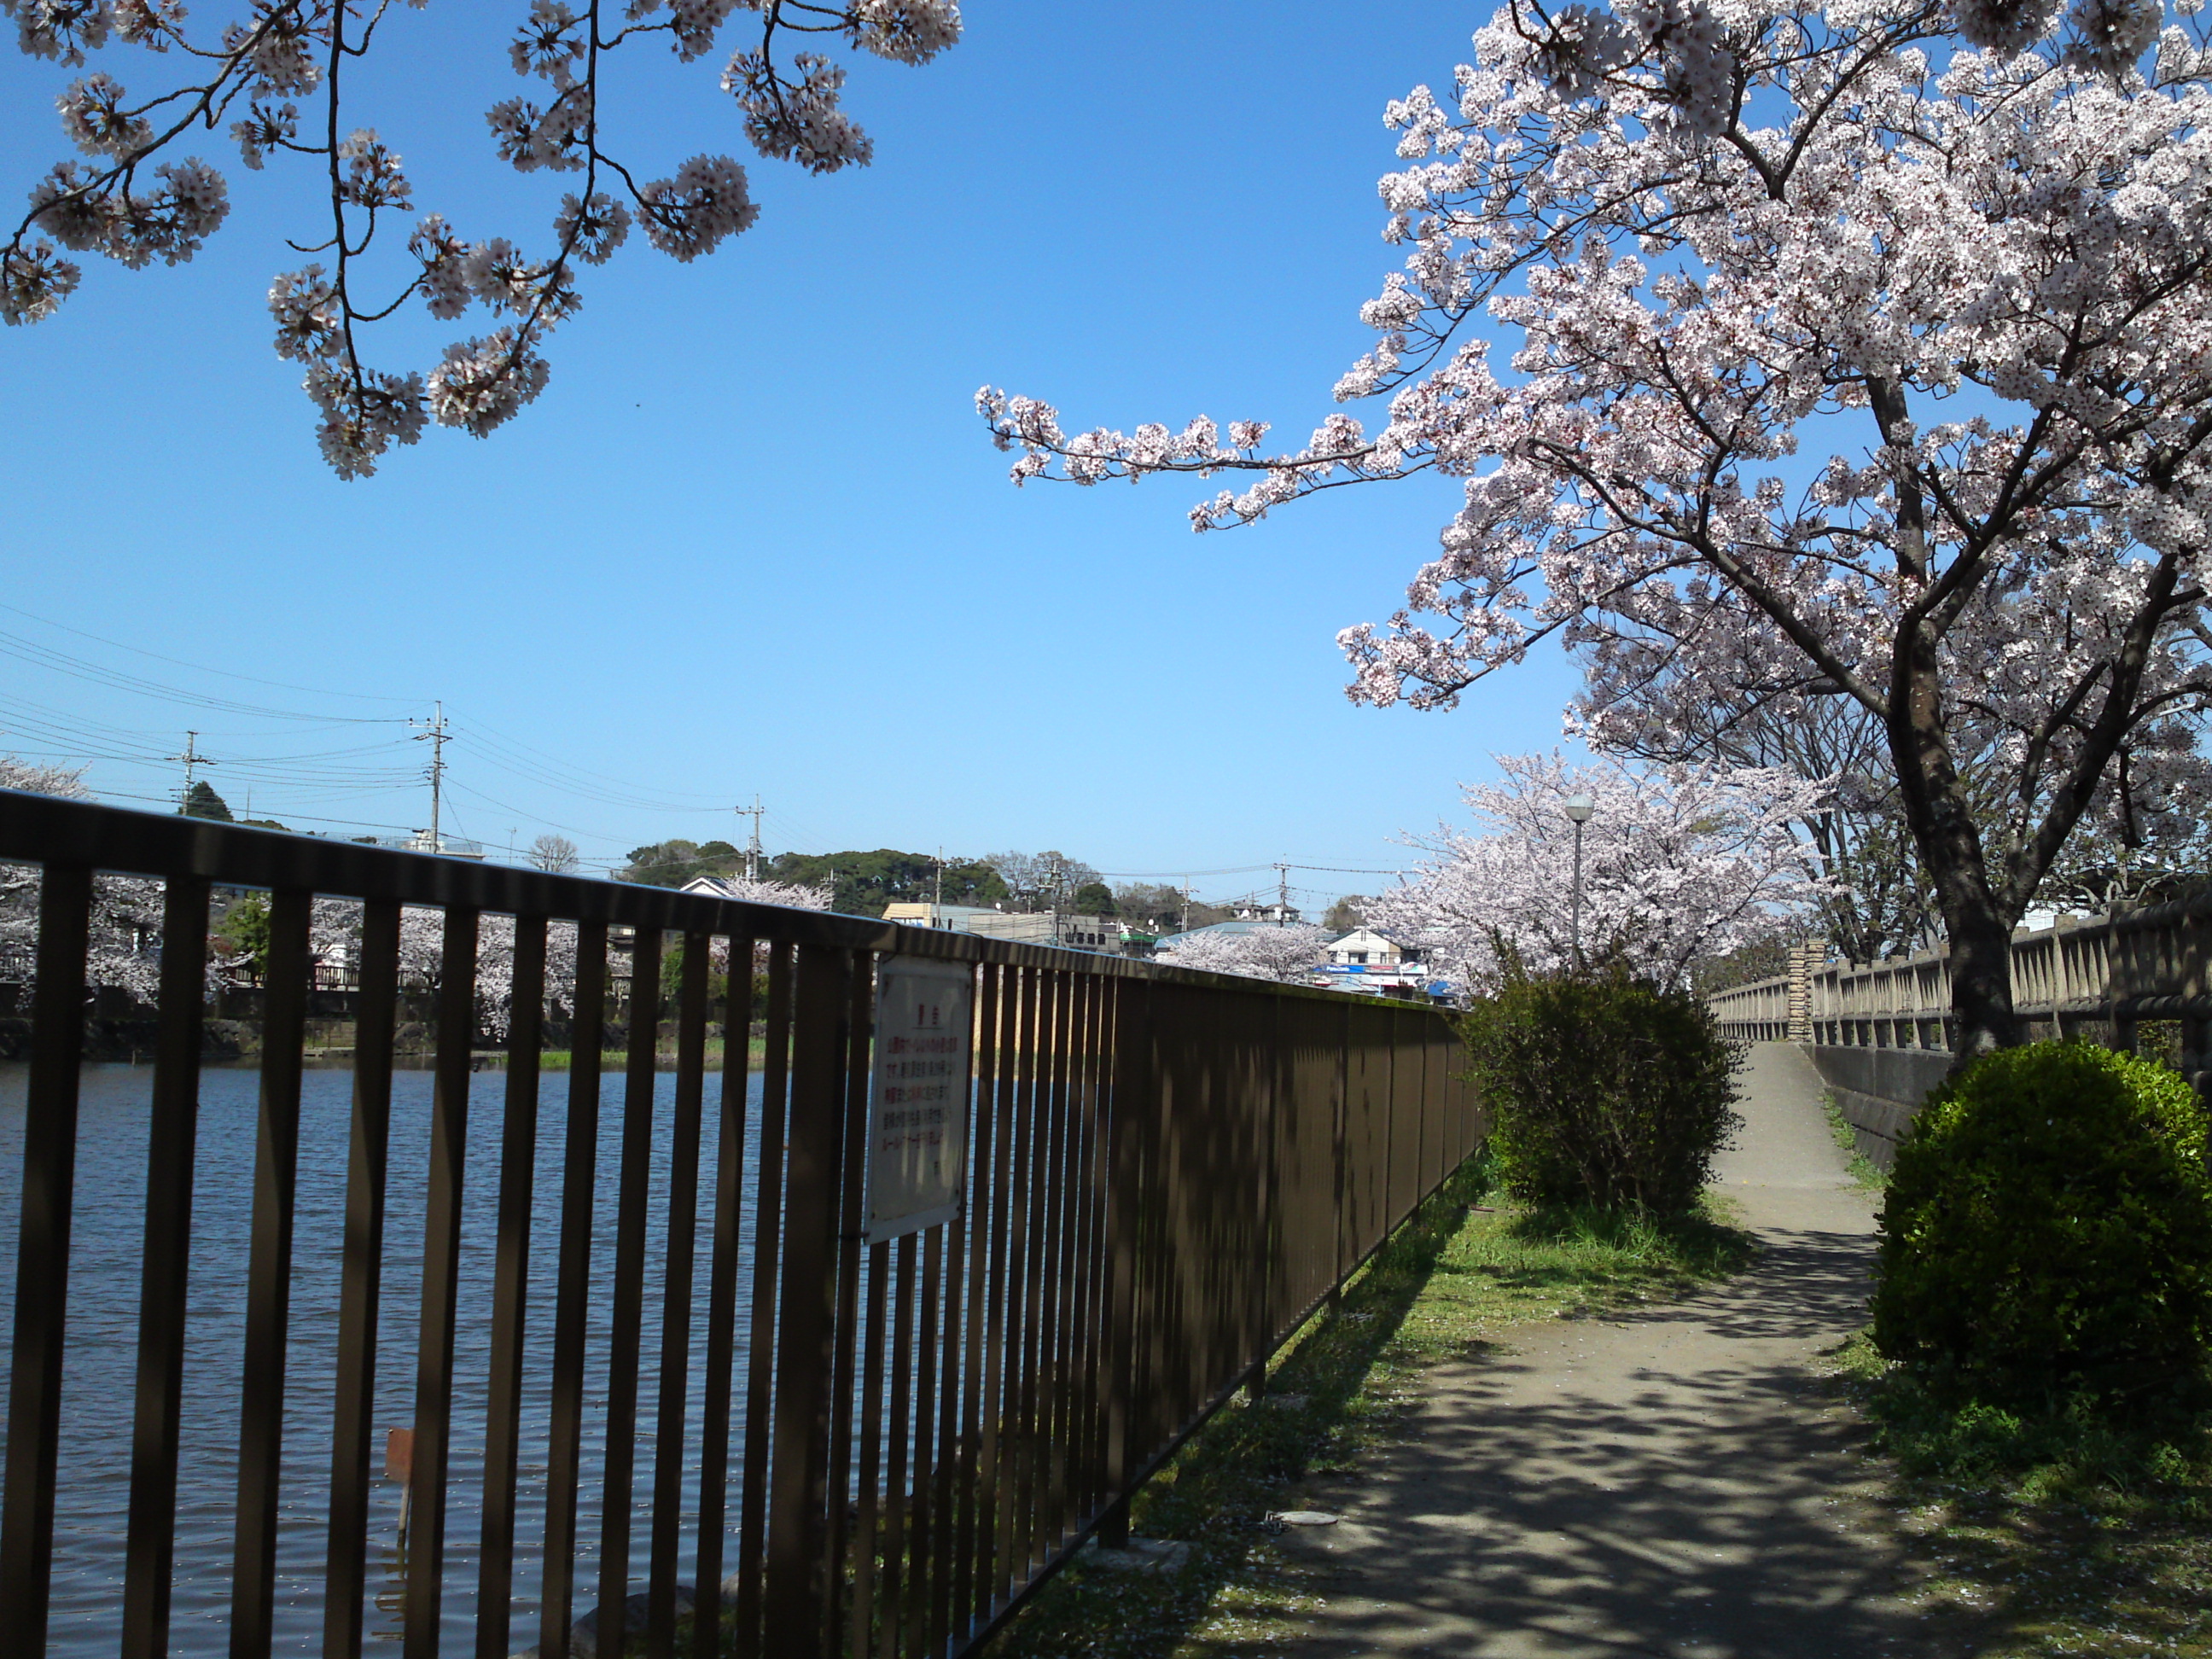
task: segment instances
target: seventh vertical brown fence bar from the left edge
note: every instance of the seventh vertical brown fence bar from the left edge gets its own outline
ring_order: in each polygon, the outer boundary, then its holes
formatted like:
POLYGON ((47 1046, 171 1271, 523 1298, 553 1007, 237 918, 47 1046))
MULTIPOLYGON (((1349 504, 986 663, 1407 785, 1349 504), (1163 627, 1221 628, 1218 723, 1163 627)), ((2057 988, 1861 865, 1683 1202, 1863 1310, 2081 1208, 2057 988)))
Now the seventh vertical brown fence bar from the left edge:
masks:
POLYGON ((562 1135, 560 1261, 553 1281, 553 1402, 546 1433, 546 1557, 538 1652, 566 1655, 575 1615, 575 1489, 584 1447, 584 1338, 591 1303, 591 1192, 599 1164, 599 1051, 606 1044, 606 922, 575 929, 568 1121, 562 1135))

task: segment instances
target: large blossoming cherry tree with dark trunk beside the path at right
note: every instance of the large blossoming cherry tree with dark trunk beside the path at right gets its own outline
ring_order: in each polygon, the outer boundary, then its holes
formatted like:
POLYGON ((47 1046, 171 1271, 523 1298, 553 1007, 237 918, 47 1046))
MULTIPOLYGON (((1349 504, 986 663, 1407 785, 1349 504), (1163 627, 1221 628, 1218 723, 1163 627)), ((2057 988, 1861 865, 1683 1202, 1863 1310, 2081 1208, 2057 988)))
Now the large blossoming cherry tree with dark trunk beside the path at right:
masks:
POLYGON ((1451 95, 1387 113, 1409 254, 1336 387, 1387 398, 1374 431, 980 407, 1018 480, 1250 473, 1199 529, 1458 480, 1405 608, 1340 637, 1356 701, 1449 708, 1557 639, 1608 697, 1661 661, 1674 708, 1725 703, 1719 641, 1854 703, 1960 1051, 2011 1044, 2013 925, 2124 750, 2212 697, 2212 35, 2181 11, 1509 0, 1451 95))

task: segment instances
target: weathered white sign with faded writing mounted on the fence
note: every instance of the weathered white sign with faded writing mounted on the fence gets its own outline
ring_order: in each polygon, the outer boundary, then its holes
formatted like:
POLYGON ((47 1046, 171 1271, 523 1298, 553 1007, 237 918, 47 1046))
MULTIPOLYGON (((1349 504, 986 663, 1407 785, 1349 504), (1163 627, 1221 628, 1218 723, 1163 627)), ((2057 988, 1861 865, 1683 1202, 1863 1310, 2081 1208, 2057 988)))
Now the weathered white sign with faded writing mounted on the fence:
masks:
POLYGON ((975 969, 891 956, 876 967, 867 1115, 867 1241, 960 1214, 967 1183, 975 969))

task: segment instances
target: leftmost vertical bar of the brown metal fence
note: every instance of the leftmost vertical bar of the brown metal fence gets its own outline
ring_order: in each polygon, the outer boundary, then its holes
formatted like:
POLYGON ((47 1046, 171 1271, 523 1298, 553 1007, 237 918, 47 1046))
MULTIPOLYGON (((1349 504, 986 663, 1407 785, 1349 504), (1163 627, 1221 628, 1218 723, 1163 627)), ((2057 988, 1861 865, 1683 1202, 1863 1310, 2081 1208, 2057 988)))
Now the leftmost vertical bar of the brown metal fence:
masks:
POLYGON ((22 1126, 15 1243, 15 1352, 0 1498, 0 1648, 46 1650, 53 1480, 62 1449, 62 1332, 77 1179, 77 1071, 84 1057, 84 949, 93 872, 46 865, 38 889, 38 993, 22 1126))

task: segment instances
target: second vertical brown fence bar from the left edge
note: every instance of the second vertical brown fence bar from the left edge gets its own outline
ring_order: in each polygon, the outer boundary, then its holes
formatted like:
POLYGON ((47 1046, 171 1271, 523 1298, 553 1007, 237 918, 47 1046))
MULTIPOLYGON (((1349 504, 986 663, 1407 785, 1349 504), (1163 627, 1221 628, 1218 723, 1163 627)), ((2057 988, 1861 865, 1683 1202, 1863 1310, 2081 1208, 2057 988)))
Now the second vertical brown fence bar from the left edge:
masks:
POLYGON ((195 876, 173 876, 161 894, 161 989, 157 1004, 161 1026, 155 1037, 153 1110, 146 1135, 146 1250, 139 1267, 131 1531, 124 1546, 124 1659, 159 1659, 168 1652, 206 962, 208 883, 195 876))

